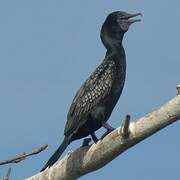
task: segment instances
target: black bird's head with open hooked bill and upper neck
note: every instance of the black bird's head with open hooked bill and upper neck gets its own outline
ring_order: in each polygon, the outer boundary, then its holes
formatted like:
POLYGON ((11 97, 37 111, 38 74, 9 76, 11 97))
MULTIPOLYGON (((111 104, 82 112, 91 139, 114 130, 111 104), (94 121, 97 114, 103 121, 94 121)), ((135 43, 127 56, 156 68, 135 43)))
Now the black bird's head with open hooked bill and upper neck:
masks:
POLYGON ((101 40, 107 47, 116 41, 122 41, 125 32, 128 31, 131 24, 140 21, 132 19, 142 15, 141 13, 129 14, 123 11, 116 11, 109 14, 101 29, 101 40))

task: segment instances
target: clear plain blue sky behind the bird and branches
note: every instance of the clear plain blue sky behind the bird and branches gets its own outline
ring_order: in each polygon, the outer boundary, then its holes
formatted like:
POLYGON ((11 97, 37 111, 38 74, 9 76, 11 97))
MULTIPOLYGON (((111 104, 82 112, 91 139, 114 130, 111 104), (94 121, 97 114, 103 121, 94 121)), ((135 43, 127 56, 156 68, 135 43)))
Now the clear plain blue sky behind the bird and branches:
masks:
MULTIPOLYGON (((127 78, 109 123, 118 127, 126 114, 136 120, 173 98, 180 83, 179 7, 178 0, 1 1, 0 160, 50 147, 1 166, 0 177, 9 167, 13 180, 36 174, 61 143, 72 99, 105 55, 99 32, 112 11, 143 17, 124 38, 127 78)), ((179 122, 168 126, 80 179, 178 179, 179 129, 179 122)))

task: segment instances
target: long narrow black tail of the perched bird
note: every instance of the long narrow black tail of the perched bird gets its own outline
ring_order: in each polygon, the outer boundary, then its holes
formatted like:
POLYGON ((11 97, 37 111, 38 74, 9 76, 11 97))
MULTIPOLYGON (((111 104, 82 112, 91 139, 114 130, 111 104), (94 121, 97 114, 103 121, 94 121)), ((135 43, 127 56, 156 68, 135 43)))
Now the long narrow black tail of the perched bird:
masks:
POLYGON ((56 152, 50 157, 50 159, 48 160, 48 162, 45 164, 45 166, 41 169, 41 172, 44 171, 47 167, 51 167, 62 155, 62 153, 65 151, 65 149, 67 148, 67 146, 69 145, 70 140, 68 137, 64 137, 63 142, 61 143, 61 145, 58 147, 58 149, 56 150, 56 152))

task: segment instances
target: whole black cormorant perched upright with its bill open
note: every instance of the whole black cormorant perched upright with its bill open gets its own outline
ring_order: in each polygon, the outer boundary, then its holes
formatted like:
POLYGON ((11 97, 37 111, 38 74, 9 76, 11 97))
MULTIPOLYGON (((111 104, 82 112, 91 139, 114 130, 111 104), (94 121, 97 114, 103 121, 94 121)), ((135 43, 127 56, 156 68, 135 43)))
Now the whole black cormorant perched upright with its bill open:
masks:
POLYGON ((97 142, 96 130, 101 127, 105 127, 107 132, 113 130, 106 121, 125 82, 126 57, 122 39, 129 26, 140 21, 131 19, 138 15, 141 14, 116 11, 106 18, 101 29, 101 40, 107 49, 105 59, 75 95, 67 115, 64 140, 41 171, 52 166, 72 141, 91 135, 97 142))

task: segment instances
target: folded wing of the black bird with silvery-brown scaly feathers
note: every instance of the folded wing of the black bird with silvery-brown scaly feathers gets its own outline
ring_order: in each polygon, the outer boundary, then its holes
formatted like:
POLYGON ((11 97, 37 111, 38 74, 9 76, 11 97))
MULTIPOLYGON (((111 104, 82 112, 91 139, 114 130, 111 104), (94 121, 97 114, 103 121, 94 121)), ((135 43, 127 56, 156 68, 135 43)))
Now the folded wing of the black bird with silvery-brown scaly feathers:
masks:
POLYGON ((85 123, 85 118, 101 101, 109 95, 114 78, 115 63, 103 62, 85 81, 73 99, 68 113, 64 133, 72 132, 85 123))

